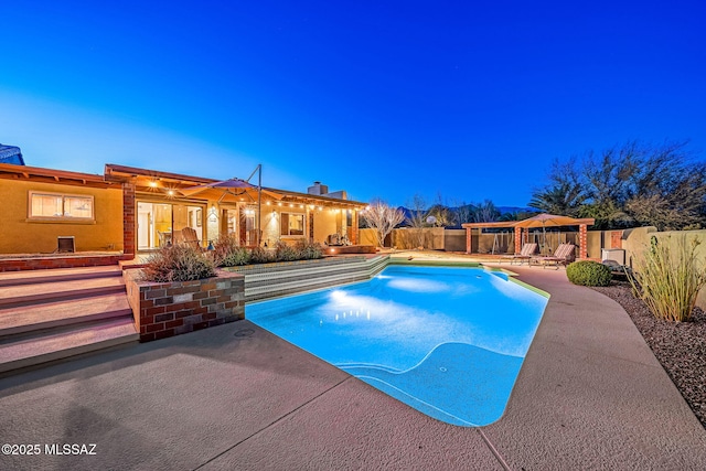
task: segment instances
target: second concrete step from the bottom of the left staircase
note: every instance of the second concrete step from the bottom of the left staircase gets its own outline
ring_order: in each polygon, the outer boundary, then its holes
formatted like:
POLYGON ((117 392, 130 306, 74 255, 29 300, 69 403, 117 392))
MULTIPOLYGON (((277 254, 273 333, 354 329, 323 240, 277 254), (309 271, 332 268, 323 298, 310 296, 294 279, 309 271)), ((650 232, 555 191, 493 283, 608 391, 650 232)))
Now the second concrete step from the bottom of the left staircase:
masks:
POLYGON ((0 341, 11 335, 130 315, 132 311, 124 292, 9 308, 0 310, 0 341))

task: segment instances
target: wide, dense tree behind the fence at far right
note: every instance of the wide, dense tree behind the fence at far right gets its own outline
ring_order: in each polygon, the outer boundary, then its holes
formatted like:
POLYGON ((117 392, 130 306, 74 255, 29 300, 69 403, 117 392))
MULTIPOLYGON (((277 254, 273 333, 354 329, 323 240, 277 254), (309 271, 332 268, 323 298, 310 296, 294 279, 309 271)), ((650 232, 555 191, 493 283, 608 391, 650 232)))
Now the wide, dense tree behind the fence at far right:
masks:
POLYGON ((568 162, 555 161, 548 184, 530 205, 548 213, 593 217, 597 228, 652 225, 660 231, 706 225, 706 162, 687 142, 628 142, 568 162))

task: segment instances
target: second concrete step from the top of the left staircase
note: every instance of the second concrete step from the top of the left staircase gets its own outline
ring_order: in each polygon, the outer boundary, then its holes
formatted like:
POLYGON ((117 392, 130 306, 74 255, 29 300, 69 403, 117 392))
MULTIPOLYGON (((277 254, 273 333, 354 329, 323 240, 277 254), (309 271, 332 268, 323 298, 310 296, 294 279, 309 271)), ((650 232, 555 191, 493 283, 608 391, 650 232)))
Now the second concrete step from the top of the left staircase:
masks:
POLYGON ((41 304, 115 292, 125 292, 122 277, 111 276, 6 286, 0 287, 0 311, 22 306, 41 304))

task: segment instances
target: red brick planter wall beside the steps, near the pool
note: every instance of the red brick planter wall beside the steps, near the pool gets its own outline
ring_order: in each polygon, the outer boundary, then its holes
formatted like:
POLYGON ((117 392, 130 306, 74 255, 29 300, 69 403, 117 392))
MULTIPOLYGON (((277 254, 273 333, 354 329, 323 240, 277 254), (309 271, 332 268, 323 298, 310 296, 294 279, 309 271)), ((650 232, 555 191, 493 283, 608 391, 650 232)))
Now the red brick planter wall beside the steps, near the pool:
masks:
POLYGON ((245 277, 217 270, 196 281, 142 281, 141 270, 124 271, 140 342, 179 335, 245 319, 245 277))

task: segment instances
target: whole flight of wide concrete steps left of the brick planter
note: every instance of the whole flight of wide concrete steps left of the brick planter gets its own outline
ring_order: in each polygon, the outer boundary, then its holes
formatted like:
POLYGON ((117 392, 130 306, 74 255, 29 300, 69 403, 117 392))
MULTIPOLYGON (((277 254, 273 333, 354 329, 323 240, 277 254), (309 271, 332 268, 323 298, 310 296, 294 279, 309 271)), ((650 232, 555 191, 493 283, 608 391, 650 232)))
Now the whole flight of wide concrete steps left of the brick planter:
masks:
POLYGON ((0 375, 138 340, 117 266, 0 274, 0 375))

